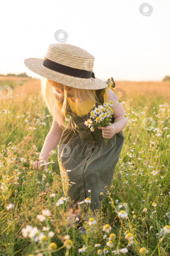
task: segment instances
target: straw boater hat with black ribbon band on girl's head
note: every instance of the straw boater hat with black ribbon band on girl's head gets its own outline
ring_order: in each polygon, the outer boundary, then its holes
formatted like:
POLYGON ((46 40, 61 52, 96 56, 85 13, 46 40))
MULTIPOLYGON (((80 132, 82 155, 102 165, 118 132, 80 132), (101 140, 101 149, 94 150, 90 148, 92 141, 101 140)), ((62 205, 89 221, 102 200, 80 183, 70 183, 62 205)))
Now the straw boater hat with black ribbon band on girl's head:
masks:
POLYGON ((107 83, 95 78, 94 56, 71 44, 50 44, 44 59, 25 59, 24 64, 34 73, 79 89, 102 89, 107 83))

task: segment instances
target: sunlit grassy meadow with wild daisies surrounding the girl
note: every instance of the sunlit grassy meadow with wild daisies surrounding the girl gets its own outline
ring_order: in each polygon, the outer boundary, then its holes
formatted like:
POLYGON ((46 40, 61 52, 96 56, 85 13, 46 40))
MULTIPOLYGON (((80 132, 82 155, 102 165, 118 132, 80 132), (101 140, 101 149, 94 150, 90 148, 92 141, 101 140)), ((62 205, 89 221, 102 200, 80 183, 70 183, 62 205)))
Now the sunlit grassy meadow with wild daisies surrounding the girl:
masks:
POLYGON ((52 124, 40 80, 0 76, 0 256, 170 255, 170 82, 115 83, 124 145, 97 223, 82 235, 66 225, 58 146, 48 173, 32 167, 52 124))

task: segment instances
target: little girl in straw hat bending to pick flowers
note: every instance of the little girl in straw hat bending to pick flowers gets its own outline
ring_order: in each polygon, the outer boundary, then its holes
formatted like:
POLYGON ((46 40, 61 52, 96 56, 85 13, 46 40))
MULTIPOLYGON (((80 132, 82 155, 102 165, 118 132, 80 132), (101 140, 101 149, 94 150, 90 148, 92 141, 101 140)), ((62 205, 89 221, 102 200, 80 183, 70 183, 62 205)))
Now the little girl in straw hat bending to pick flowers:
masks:
MULTIPOLYGON (((58 163, 64 196, 68 198, 67 220, 70 226, 78 225, 81 208, 88 204, 92 212, 97 212, 110 187, 123 147, 126 112, 118 102, 112 77, 106 82, 96 78, 92 71, 94 56, 78 46, 50 44, 44 59, 29 58, 24 63, 43 76, 41 96, 53 117, 39 159, 47 161, 59 143, 58 163), (91 118, 91 110, 95 112, 108 100, 114 103, 111 125, 91 131, 84 122, 91 118), (107 144, 104 138, 109 139, 107 144)), ((40 169, 40 161, 33 163, 34 169, 40 169)))

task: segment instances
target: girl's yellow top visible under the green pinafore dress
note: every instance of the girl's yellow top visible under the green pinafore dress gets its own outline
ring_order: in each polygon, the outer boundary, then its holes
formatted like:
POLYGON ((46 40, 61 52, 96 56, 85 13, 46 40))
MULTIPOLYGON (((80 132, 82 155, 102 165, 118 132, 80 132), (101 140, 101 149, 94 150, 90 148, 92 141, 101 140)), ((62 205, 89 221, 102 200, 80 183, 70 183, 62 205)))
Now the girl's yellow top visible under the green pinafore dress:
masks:
MULTIPOLYGON (((107 102, 107 93, 106 93, 107 90, 111 89, 112 91, 114 91, 114 93, 116 92, 116 90, 113 87, 111 87, 111 85, 112 85, 112 81, 110 81, 108 83, 108 86, 102 91, 102 96, 103 96, 104 102, 107 102)), ((94 90, 94 93, 95 93, 95 90, 94 90)), ((86 108, 80 109, 79 104, 81 104, 82 102, 79 102, 78 103, 78 111, 76 112, 76 110, 75 110, 76 103, 73 102, 71 100, 71 98, 67 98, 67 100, 68 100, 68 103, 70 105, 72 112, 76 116, 84 116, 85 114, 89 113, 95 107, 95 102, 91 102, 89 100, 89 98, 87 98, 85 101, 83 101, 83 104, 86 105, 86 108)), ((60 107, 60 103, 59 103, 59 107, 60 107)))

